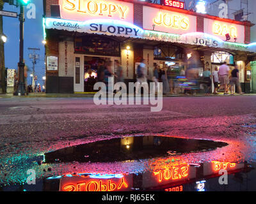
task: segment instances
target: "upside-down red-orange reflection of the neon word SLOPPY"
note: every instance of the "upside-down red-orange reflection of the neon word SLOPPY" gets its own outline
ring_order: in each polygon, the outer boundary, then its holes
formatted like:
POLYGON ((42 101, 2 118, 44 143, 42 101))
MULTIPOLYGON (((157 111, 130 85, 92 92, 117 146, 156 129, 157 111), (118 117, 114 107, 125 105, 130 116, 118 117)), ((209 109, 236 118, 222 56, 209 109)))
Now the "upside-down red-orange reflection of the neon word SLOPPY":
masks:
POLYGON ((127 181, 122 177, 118 181, 112 179, 90 179, 75 184, 63 186, 62 191, 124 191, 127 189, 127 181))

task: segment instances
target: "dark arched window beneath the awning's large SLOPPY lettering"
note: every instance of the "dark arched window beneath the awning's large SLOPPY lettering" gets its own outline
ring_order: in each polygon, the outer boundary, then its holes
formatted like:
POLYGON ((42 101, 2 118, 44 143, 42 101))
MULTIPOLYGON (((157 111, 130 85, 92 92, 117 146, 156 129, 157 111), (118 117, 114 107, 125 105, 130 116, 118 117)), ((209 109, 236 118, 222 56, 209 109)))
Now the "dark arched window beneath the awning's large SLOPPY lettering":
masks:
POLYGON ((75 39, 75 52, 79 54, 120 56, 120 43, 105 36, 86 35, 75 39))

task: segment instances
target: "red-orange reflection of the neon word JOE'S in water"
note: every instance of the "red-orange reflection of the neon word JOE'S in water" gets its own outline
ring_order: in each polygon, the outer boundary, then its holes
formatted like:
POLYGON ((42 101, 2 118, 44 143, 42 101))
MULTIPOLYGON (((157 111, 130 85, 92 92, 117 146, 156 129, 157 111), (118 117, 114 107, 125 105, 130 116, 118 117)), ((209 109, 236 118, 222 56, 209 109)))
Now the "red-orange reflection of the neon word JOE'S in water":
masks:
POLYGON ((188 166, 173 166, 172 168, 154 171, 153 173, 159 182, 163 180, 177 180, 188 177, 188 166))

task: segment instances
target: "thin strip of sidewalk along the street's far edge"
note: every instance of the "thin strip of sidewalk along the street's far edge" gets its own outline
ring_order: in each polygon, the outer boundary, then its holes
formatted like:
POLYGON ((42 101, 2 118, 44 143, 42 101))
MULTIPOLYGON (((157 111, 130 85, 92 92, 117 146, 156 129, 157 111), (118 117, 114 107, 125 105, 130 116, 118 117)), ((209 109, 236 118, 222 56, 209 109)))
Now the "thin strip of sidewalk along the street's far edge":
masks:
MULTIPOLYGON (((0 99, 1 98, 93 98, 94 93, 93 92, 84 92, 84 93, 74 93, 74 94, 45 94, 44 92, 41 93, 29 93, 28 96, 13 96, 13 94, 0 94, 0 99)), ((134 94, 135 96, 135 94, 134 94)), ((141 94, 143 96, 143 94, 141 94)), ((177 95, 172 95, 172 94, 166 94, 163 95, 164 98, 168 97, 211 97, 211 96, 223 96, 223 97, 228 97, 230 94, 227 96, 224 96, 223 93, 219 94, 211 94, 210 96, 205 96, 205 94, 196 94, 196 95, 185 95, 185 94, 177 94, 177 95)), ((234 96, 241 96, 240 94, 235 94, 234 96)), ((230 97, 234 97, 230 96, 230 97)), ((250 93, 250 94, 243 94, 242 96, 256 96, 256 93, 250 93)), ((130 96, 131 97, 131 96, 130 96)))

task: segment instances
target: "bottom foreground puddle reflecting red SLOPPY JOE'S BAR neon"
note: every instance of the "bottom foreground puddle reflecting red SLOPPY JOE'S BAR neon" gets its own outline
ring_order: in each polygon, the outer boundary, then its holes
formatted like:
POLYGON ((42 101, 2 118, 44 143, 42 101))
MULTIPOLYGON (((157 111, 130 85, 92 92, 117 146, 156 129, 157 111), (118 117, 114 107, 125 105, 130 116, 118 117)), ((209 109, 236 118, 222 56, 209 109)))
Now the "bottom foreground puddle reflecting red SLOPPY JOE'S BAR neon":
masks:
POLYGON ((175 163, 158 171, 140 173, 67 173, 36 179, 36 185, 0 187, 0 191, 255 191, 256 163, 175 163), (220 170, 227 184, 220 184, 220 170))

